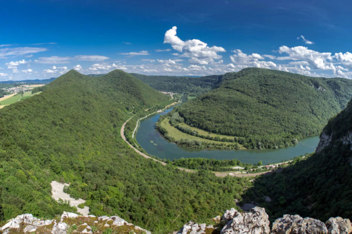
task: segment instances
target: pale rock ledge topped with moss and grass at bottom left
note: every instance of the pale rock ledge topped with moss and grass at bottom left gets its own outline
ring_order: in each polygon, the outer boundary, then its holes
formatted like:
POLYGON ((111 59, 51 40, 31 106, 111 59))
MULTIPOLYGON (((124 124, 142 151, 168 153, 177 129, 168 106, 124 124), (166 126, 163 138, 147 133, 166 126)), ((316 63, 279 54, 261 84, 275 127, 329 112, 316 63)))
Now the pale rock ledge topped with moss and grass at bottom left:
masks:
POLYGON ((18 215, 0 228, 2 234, 11 233, 135 233, 151 234, 151 232, 126 222, 119 216, 82 216, 64 212, 55 220, 41 220, 32 214, 18 215))

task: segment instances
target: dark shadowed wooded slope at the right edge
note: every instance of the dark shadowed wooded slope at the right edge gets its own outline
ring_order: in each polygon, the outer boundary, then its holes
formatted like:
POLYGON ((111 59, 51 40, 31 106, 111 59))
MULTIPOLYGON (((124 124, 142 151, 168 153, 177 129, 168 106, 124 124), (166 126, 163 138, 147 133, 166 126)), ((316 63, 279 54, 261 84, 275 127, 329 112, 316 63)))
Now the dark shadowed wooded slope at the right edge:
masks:
POLYGON ((259 202, 273 220, 283 214, 352 219, 351 116, 352 101, 323 129, 319 145, 325 147, 319 153, 280 173, 257 178, 245 200, 259 202), (265 202, 264 196, 272 201, 265 202))

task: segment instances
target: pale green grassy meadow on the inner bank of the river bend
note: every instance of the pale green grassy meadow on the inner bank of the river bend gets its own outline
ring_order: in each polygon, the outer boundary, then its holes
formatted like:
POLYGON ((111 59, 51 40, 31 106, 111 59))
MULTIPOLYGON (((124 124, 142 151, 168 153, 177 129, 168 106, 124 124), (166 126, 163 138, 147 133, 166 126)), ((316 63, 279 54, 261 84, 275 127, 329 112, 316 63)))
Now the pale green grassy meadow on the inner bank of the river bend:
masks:
MULTIPOLYGON (((188 140, 202 141, 202 142, 206 142, 206 143, 234 145, 234 143, 232 143, 232 142, 213 141, 213 140, 203 139, 203 138, 200 138, 197 136, 192 136, 187 133, 183 133, 180 130, 178 130, 177 128, 175 128, 174 126, 171 126, 168 118, 164 119, 161 122, 161 126, 164 127, 168 131, 168 134, 170 136, 172 136, 176 141, 179 141, 181 139, 188 139, 188 140)), ((207 134, 208 133, 206 132, 205 135, 207 135, 207 134)), ((213 135, 217 135, 217 134, 213 134, 213 135)), ((222 136, 222 135, 218 135, 218 136, 222 136)), ((229 137, 229 136, 227 136, 227 137, 229 137)), ((229 138, 231 138, 231 137, 229 137, 229 138)), ((245 148, 240 145, 240 149, 245 149, 245 148)))

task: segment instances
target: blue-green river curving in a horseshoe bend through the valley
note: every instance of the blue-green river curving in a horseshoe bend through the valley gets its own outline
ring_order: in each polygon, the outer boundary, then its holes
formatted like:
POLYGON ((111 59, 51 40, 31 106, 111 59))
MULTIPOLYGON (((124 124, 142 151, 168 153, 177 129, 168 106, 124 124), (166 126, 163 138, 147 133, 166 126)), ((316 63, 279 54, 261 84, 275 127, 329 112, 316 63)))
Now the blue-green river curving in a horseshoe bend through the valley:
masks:
MULTIPOLYGON (((172 108, 171 108, 172 109, 172 108)), ((136 135, 136 140, 146 152, 158 156, 161 159, 179 159, 179 158, 214 158, 214 159, 238 159, 243 163, 258 163, 260 160, 263 165, 267 163, 281 162, 289 160, 294 156, 305 153, 311 153, 319 143, 319 136, 306 138, 298 142, 296 146, 283 149, 245 149, 245 150, 223 150, 223 149, 192 149, 177 146, 169 142, 155 129, 155 123, 160 115, 167 112, 152 115, 142 121, 136 135), (152 141, 152 142, 151 142, 152 141)))

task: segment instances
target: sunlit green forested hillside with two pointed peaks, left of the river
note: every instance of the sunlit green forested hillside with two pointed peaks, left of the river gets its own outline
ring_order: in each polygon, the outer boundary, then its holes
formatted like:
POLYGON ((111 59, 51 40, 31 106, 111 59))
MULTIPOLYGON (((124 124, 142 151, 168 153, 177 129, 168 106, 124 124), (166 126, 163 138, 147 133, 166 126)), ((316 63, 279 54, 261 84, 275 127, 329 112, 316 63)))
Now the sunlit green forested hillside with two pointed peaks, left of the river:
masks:
POLYGON ((161 233, 211 218, 240 198, 243 179, 182 172, 128 147, 122 124, 173 101, 132 75, 71 70, 43 90, 0 110, 0 222, 73 211, 51 198, 52 180, 70 183, 66 192, 86 200, 90 214, 161 233))

